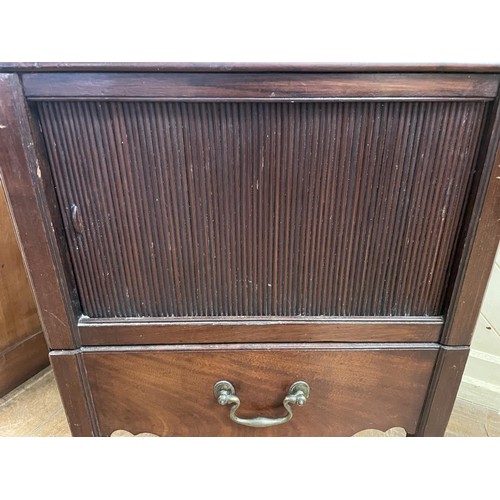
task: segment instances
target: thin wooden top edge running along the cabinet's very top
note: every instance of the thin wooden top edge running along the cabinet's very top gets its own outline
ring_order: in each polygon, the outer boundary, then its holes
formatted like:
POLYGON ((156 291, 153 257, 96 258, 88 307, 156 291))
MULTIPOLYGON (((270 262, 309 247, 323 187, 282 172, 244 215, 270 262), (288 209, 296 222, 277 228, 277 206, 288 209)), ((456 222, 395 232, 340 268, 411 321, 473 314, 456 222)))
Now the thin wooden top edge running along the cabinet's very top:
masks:
POLYGON ((494 63, 335 63, 335 62, 0 62, 1 71, 138 71, 176 72, 446 72, 500 73, 500 61, 494 63))

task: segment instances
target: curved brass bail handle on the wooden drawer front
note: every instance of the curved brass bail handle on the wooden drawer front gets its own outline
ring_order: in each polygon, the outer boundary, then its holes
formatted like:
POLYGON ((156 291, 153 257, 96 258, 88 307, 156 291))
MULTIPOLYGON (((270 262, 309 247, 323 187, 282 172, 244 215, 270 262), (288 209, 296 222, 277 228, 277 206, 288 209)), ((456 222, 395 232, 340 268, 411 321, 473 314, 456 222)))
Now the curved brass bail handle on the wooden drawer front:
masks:
POLYGON ((295 382, 288 389, 288 394, 283 400, 283 406, 287 411, 284 417, 267 418, 267 417, 254 417, 254 418, 240 418, 236 415, 236 410, 240 407, 240 398, 236 396, 233 384, 227 380, 220 380, 214 385, 214 396, 217 402, 224 405, 232 405, 229 417, 233 422, 240 425, 247 425, 248 427, 271 427, 272 425, 286 424, 293 417, 290 405, 304 406, 307 398, 309 397, 310 389, 307 382, 295 382))

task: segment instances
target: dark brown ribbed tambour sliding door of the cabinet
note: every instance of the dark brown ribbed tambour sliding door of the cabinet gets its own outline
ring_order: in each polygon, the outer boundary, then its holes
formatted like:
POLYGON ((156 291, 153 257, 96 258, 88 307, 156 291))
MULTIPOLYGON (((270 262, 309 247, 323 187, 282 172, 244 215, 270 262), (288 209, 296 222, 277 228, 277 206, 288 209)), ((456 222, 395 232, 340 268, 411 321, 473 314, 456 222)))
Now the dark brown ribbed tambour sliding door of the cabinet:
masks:
POLYGON ((85 314, 443 313, 486 104, 38 106, 85 314))

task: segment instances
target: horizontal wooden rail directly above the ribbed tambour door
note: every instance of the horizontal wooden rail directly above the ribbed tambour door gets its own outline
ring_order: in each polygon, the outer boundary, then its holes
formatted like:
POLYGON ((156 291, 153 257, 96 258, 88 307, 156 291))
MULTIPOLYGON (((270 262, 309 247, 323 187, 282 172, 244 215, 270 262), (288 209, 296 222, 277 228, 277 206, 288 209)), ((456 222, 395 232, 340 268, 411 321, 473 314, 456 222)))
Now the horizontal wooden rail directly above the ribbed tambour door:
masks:
POLYGON ((417 73, 27 73, 31 99, 493 99, 498 75, 417 73))

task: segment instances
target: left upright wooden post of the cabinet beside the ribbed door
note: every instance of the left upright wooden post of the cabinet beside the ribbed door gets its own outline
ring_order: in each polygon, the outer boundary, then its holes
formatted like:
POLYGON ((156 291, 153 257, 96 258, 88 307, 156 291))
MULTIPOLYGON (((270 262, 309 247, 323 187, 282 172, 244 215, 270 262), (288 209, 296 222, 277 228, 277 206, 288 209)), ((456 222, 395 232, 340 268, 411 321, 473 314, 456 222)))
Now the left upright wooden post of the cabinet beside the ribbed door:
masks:
POLYGON ((44 193, 47 170, 13 74, 0 75, 0 168, 47 343, 74 347, 76 317, 44 193))

